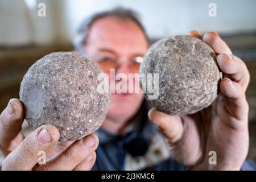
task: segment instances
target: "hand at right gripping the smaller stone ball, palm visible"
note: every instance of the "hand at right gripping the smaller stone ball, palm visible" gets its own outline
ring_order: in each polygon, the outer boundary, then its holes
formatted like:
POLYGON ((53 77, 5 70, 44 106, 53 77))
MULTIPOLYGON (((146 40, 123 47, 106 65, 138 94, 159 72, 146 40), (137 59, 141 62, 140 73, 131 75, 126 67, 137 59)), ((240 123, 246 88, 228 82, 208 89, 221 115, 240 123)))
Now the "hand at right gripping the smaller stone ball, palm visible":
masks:
MULTIPOLYGON (((202 39, 197 31, 189 35, 202 39)), ((149 118, 166 135, 172 155, 191 169, 240 170, 249 147, 248 112, 245 90, 250 75, 245 63, 232 55, 216 34, 203 36, 217 54, 224 78, 220 93, 208 108, 192 115, 168 115, 155 109, 149 118), (209 164, 209 152, 217 154, 217 164, 209 164)))

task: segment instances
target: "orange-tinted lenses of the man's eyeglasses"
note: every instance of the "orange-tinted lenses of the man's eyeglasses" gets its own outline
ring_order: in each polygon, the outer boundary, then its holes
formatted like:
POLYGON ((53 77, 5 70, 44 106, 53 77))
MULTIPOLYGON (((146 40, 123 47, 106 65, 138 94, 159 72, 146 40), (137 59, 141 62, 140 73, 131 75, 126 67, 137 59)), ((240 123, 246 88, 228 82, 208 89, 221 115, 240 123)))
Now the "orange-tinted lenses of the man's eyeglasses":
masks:
MULTIPOLYGON (((111 57, 111 56, 95 56, 90 57, 92 61, 98 63, 101 69, 108 73, 110 69, 118 69, 121 66, 121 59, 119 57, 111 57)), ((139 65, 141 65, 143 58, 141 56, 134 57, 134 59, 129 60, 126 64, 129 67, 131 73, 139 72, 139 65)))

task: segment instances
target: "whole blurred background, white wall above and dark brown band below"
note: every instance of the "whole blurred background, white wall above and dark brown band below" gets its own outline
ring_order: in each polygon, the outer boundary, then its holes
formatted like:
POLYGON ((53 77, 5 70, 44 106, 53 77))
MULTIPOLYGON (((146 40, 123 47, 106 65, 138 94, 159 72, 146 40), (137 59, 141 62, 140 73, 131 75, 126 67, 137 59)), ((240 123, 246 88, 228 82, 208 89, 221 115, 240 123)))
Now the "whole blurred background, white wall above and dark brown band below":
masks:
POLYGON ((96 11, 128 7, 138 12, 151 42, 190 30, 217 31, 234 55, 245 61, 251 81, 246 92, 250 105, 250 152, 256 161, 256 1, 231 0, 0 0, 0 111, 18 98, 24 73, 40 57, 72 50, 81 20, 96 11), (38 12, 46 5, 46 16, 38 12), (210 3, 216 16, 209 16, 210 3))

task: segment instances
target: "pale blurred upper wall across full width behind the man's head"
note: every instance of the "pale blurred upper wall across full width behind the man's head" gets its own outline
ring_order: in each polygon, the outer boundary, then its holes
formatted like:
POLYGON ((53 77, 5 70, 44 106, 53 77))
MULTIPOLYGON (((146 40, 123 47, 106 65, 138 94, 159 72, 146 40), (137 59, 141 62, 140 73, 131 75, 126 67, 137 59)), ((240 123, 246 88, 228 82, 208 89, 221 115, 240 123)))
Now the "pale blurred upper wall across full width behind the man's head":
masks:
POLYGON ((24 13, 18 14, 18 3, 9 6, 10 10, 0 7, 0 44, 71 42, 85 16, 116 6, 138 11, 151 38, 185 34, 189 30, 226 34, 256 31, 255 0, 0 0, 0 5, 21 1, 46 3, 47 16, 39 17, 34 7, 30 18, 26 18, 24 13), (208 15, 210 2, 217 5, 217 17, 208 15))

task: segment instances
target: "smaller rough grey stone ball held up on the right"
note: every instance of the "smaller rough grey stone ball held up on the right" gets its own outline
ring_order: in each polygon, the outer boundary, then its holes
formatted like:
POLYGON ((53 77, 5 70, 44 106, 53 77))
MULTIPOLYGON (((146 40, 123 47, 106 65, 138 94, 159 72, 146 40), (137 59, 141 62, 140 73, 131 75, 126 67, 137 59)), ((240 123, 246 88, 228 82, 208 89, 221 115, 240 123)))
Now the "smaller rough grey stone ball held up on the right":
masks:
MULTIPOLYGON (((172 36, 153 44, 144 56, 140 73, 159 73, 159 97, 149 100, 168 114, 193 114, 217 97, 222 77, 216 55, 202 40, 172 36)), ((147 90, 143 90, 148 98, 147 90)))

